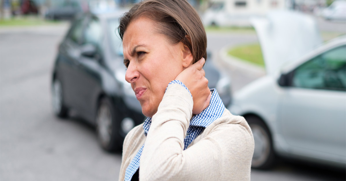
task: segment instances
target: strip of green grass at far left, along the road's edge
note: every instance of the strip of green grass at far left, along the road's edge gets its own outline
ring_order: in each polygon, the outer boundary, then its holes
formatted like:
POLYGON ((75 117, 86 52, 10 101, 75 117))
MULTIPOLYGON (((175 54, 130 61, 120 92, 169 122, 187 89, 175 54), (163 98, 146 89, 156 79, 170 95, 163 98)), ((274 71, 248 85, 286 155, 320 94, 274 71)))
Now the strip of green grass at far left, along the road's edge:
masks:
POLYGON ((11 26, 40 26, 40 25, 54 25, 59 24, 58 21, 44 20, 36 16, 22 16, 14 17, 10 19, 1 19, 1 27, 11 27, 11 26))

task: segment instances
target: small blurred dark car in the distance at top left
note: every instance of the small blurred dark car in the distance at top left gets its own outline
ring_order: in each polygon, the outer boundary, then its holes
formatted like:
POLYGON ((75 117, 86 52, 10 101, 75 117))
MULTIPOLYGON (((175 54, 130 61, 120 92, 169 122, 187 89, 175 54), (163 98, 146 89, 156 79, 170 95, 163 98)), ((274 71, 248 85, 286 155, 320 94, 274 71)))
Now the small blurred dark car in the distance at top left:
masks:
POLYGON ((81 12, 82 7, 79 2, 66 1, 60 6, 48 9, 45 18, 50 20, 73 20, 81 12))

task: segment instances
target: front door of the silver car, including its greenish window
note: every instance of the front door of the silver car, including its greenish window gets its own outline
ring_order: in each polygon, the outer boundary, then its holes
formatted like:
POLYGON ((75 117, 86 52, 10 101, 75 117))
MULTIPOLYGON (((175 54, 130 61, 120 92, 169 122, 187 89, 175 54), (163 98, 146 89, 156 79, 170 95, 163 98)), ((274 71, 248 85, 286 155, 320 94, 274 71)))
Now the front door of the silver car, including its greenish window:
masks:
POLYGON ((345 163, 346 46, 301 64, 280 97, 280 133, 289 152, 345 163))

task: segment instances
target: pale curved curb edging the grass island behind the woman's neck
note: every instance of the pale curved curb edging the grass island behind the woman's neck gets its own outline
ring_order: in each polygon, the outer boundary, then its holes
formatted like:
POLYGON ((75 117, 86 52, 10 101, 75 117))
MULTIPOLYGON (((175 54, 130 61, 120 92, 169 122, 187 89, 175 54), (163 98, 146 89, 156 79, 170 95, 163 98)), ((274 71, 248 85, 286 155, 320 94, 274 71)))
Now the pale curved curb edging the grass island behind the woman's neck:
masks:
POLYGON ((247 62, 243 59, 227 55, 227 50, 232 47, 233 46, 227 46, 219 51, 219 58, 224 66, 228 67, 229 70, 238 69, 258 77, 266 75, 266 71, 263 67, 257 66, 256 64, 247 62))

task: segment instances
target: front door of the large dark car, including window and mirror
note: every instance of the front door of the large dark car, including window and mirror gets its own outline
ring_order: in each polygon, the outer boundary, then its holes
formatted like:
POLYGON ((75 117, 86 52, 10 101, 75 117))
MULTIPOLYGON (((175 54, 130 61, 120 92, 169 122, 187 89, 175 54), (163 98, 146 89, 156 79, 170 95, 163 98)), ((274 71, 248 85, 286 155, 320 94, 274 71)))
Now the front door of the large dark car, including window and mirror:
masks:
POLYGON ((74 79, 76 86, 76 101, 80 111, 88 120, 93 120, 95 97, 101 92, 102 72, 102 28, 96 17, 88 18, 83 30, 83 40, 80 55, 77 60, 74 79))

